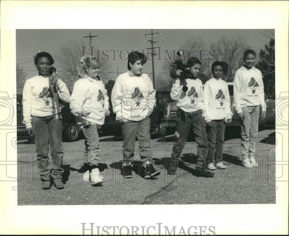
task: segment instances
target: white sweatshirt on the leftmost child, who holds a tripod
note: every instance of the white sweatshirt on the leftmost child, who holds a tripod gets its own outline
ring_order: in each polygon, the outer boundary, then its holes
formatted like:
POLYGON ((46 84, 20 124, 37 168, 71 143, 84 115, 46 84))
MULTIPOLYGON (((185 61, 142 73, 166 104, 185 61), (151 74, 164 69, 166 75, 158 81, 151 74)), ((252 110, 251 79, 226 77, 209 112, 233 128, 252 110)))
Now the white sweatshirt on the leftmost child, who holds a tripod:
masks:
MULTIPOLYGON (((69 102, 69 91, 59 78, 57 94, 63 102, 69 102)), ((32 127, 31 115, 45 117, 61 112, 58 96, 50 90, 48 76, 36 75, 26 80, 23 88, 23 122, 26 129, 32 127)))

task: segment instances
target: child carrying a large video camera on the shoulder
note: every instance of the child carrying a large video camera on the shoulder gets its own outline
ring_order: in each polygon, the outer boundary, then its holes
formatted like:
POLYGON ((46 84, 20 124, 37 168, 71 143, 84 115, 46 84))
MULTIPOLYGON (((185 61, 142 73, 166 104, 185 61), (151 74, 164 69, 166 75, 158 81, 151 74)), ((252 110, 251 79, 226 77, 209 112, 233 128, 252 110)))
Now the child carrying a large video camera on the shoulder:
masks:
POLYGON ((174 142, 171 162, 168 167, 168 174, 175 175, 181 152, 186 145, 186 139, 192 128, 197 142, 197 165, 196 172, 198 176, 213 177, 214 173, 206 168, 206 158, 208 155, 208 142, 203 119, 203 84, 198 79, 201 69, 201 62, 196 58, 189 58, 187 68, 189 75, 181 79, 181 70, 177 70, 179 76, 173 83, 171 90, 171 99, 177 101, 177 140, 174 142), (187 86, 187 90, 183 89, 187 86))

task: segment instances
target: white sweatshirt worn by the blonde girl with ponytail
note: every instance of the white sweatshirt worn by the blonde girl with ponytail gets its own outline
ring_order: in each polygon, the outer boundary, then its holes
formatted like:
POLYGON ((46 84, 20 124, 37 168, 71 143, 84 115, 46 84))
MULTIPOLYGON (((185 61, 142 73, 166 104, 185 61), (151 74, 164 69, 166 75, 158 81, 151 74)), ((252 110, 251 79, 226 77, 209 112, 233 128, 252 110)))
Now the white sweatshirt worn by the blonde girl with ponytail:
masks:
POLYGON ((109 108, 108 95, 101 79, 84 77, 78 79, 73 86, 70 100, 70 110, 75 115, 75 121, 80 129, 95 124, 101 127, 105 119, 105 109, 109 108), (91 113, 88 117, 81 115, 81 110, 91 113))

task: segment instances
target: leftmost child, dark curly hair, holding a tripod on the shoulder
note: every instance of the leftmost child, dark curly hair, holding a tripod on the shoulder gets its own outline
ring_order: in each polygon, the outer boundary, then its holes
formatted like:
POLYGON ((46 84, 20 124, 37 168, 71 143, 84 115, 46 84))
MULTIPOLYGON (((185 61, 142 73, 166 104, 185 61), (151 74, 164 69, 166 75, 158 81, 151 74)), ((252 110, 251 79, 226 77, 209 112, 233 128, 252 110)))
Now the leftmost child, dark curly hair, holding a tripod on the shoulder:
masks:
POLYGON ((62 117, 58 99, 69 102, 70 94, 66 84, 55 72, 50 75, 54 63, 47 52, 39 52, 34 58, 38 75, 26 80, 23 89, 23 122, 30 136, 35 134, 37 165, 40 170, 42 189, 50 189, 50 175, 57 189, 63 189, 61 168, 63 161, 62 117), (56 86, 51 76, 56 78, 56 86), (53 170, 50 174, 48 149, 51 149, 53 170))

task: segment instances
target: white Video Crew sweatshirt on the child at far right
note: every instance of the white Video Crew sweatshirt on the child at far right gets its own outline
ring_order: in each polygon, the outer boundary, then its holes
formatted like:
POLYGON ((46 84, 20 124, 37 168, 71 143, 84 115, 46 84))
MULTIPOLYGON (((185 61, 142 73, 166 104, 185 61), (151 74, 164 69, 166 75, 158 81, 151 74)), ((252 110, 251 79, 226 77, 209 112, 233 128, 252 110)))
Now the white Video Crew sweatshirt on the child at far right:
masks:
POLYGON ((258 106, 262 111, 266 109, 264 100, 264 85, 261 71, 255 67, 247 70, 242 66, 235 73, 234 78, 234 107, 237 113, 246 106, 258 106))

